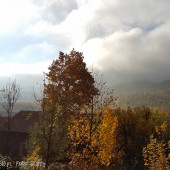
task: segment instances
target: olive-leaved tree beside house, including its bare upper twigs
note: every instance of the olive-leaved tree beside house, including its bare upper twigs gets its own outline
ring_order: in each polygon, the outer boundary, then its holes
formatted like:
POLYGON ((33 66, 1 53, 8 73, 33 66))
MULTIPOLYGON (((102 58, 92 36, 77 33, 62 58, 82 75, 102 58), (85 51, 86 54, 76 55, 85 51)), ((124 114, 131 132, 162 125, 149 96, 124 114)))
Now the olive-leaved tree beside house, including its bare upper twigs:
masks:
POLYGON ((34 145, 40 146, 39 157, 45 161, 46 168, 49 162, 55 161, 56 157, 61 157, 63 149, 59 138, 62 136, 61 128, 59 128, 61 118, 60 108, 54 107, 54 101, 49 101, 45 96, 46 74, 44 73, 43 87, 40 86, 40 94, 34 91, 34 97, 37 104, 41 108, 39 121, 30 129, 29 140, 27 142, 27 157, 32 157, 34 153, 34 145))

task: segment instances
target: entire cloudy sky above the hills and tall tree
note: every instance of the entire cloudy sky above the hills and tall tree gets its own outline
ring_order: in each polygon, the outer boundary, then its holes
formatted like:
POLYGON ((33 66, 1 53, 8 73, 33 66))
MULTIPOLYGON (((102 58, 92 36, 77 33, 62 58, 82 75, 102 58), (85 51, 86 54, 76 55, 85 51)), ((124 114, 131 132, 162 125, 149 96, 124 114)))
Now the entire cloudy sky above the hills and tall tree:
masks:
POLYGON ((84 54, 114 83, 170 78, 169 0, 0 0, 0 76, 84 54))

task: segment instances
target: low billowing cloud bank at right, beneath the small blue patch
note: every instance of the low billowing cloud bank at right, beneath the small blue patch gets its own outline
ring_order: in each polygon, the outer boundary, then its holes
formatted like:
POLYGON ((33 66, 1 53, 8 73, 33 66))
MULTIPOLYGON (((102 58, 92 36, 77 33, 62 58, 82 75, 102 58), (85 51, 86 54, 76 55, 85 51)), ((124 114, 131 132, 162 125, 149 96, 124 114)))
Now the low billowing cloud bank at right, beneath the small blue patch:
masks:
POLYGON ((118 37, 113 35, 103 44, 106 49, 99 61, 101 69, 115 82, 169 79, 170 34, 163 33, 160 29, 147 34, 134 29, 131 32, 122 32, 118 37))

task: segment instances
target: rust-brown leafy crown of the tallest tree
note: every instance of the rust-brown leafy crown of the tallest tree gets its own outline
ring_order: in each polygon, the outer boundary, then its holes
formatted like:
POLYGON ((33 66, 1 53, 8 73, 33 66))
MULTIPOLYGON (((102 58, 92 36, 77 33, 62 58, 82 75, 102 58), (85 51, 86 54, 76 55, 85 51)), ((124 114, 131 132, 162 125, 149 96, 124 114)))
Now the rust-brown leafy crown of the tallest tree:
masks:
POLYGON ((74 49, 70 54, 60 52, 59 58, 49 67, 46 98, 50 102, 55 101, 55 105, 59 104, 63 114, 78 111, 98 94, 94 78, 83 59, 83 53, 74 49))

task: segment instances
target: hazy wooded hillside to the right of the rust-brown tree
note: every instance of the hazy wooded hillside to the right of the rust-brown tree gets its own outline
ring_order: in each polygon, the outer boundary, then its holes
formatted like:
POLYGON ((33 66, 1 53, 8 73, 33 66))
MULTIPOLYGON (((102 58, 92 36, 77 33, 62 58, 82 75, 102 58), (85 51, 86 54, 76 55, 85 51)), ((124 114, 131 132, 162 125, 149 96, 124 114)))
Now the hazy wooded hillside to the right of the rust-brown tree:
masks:
POLYGON ((114 89, 120 107, 147 106, 170 111, 170 80, 127 82, 116 85, 114 89))

